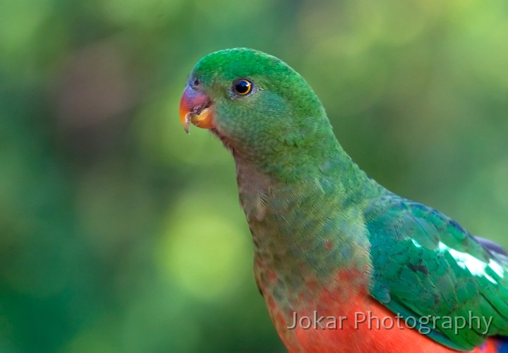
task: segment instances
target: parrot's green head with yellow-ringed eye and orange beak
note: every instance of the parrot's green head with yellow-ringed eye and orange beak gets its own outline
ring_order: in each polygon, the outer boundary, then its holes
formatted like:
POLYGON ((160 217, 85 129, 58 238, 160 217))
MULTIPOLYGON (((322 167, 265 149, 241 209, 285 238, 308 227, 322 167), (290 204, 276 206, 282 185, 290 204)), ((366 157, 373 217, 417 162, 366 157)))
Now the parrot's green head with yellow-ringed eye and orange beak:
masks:
POLYGON ((180 103, 181 122, 210 128, 235 157, 277 172, 304 164, 335 140, 322 104, 296 71, 253 49, 214 52, 195 65, 180 103))

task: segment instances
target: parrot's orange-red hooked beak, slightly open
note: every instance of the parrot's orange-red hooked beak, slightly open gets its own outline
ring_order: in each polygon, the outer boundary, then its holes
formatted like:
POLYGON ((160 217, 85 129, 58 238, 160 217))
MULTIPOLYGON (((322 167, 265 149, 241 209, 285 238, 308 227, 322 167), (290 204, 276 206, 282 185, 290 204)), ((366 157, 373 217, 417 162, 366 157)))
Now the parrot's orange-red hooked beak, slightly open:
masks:
POLYGON ((190 123, 198 128, 214 128, 214 109, 210 97, 187 85, 180 100, 180 121, 186 133, 190 123))

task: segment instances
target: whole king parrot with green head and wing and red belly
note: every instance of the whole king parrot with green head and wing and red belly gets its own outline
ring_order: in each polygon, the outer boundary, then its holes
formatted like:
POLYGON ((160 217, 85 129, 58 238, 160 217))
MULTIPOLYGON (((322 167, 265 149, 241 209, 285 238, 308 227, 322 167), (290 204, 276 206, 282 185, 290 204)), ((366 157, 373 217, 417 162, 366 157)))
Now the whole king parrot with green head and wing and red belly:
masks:
POLYGON ((507 253, 365 174, 293 68, 209 54, 180 117, 234 157, 255 280, 289 352, 507 352, 507 253))

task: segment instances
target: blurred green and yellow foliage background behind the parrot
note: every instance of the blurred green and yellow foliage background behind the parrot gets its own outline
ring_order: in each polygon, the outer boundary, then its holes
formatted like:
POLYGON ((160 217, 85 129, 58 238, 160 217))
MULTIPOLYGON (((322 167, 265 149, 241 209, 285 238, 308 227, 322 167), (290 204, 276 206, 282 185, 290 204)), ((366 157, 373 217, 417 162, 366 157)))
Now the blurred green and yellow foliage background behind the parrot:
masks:
POLYGON ((178 104, 279 56, 358 164, 508 246, 505 0, 0 1, 0 352, 284 352, 234 164, 178 104))

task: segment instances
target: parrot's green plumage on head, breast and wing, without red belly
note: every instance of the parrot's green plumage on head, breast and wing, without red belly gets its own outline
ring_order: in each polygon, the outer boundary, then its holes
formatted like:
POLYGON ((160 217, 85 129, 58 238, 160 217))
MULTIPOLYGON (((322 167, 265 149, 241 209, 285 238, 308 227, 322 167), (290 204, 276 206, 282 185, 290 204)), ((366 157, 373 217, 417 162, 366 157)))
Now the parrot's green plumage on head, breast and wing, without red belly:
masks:
MULTIPOLYGON (((489 327, 470 325, 457 334, 437 323, 430 337, 453 349, 508 335, 507 257, 437 210, 370 179, 292 68, 251 49, 228 49, 205 56, 189 82, 210 97, 212 132, 234 156, 256 279, 277 308, 270 309, 273 317, 310 309, 346 271, 362 275, 341 284, 344 299, 337 301, 344 307, 366 284, 373 298, 405 317, 492 317, 489 327), (238 78, 250 80, 253 91, 236 94, 238 78)), ((290 335, 277 329, 283 339, 290 335)))

